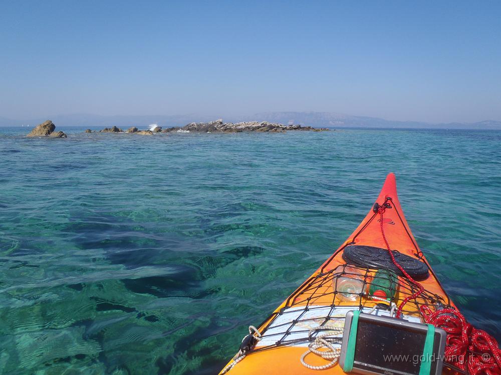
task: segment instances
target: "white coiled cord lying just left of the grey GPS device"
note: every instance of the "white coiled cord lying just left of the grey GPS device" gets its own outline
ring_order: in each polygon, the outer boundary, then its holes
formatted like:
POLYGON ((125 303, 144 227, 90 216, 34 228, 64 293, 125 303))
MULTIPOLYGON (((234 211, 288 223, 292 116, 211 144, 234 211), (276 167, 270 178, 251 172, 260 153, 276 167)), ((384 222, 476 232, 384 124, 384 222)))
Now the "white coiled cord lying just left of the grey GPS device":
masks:
POLYGON ((341 347, 335 347, 333 344, 341 343, 341 337, 335 336, 343 334, 343 328, 329 324, 319 325, 318 327, 310 328, 309 336, 311 337, 312 334, 320 330, 328 330, 328 332, 317 335, 315 340, 308 344, 308 350, 301 355, 301 363, 303 366, 311 370, 325 370, 326 368, 334 366, 338 361, 339 353, 341 352, 341 347), (324 347, 327 348, 327 350, 319 350, 324 347), (330 362, 321 366, 314 366, 306 363, 305 358, 310 353, 317 354, 326 360, 330 360, 330 362))

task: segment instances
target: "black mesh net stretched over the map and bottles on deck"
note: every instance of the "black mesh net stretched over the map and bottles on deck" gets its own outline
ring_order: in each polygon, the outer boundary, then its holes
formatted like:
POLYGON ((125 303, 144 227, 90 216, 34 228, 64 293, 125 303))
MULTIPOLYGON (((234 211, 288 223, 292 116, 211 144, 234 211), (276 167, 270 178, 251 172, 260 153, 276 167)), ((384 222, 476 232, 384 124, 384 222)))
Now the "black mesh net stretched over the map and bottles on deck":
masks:
MULTIPOLYGON (((370 297, 368 289, 371 284, 377 288, 388 283, 387 279, 375 277, 376 271, 342 264, 310 277, 287 299, 284 307, 260 326, 263 338, 252 352, 283 345, 307 346, 318 334, 312 333, 312 329, 324 325, 343 328, 346 313, 350 310, 394 316, 395 307, 418 289, 408 279, 398 276, 397 285, 392 285, 396 295, 390 299, 370 297)), ((422 322, 417 316, 422 305, 428 306, 431 311, 451 307, 448 298, 425 289, 419 297, 405 305, 403 318, 422 322)))

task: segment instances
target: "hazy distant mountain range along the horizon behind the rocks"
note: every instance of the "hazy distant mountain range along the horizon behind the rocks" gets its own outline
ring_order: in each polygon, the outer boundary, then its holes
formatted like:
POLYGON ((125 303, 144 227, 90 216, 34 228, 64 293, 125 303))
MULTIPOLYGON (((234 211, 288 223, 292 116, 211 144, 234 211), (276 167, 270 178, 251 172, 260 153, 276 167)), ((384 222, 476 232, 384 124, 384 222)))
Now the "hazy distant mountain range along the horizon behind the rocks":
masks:
POLYGON ((394 121, 376 117, 350 116, 333 112, 265 112, 253 116, 202 116, 202 115, 145 115, 145 116, 100 116, 91 114, 57 115, 30 120, 12 120, 0 117, 0 126, 38 125, 52 120, 57 126, 86 127, 145 127, 150 124, 159 126, 182 126, 191 122, 204 122, 223 118, 226 122, 269 121, 285 125, 310 125, 329 128, 428 128, 428 129, 501 129, 501 121, 487 120, 476 123, 426 123, 419 121, 394 121))

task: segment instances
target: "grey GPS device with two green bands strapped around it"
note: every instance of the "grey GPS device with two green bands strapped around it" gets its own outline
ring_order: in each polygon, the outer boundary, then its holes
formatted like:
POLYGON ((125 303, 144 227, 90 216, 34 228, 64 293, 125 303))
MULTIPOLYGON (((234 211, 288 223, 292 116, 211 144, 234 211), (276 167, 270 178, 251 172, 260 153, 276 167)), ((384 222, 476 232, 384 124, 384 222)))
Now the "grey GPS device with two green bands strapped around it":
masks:
POLYGON ((429 324, 348 311, 339 364, 366 375, 440 375, 445 338, 429 324))

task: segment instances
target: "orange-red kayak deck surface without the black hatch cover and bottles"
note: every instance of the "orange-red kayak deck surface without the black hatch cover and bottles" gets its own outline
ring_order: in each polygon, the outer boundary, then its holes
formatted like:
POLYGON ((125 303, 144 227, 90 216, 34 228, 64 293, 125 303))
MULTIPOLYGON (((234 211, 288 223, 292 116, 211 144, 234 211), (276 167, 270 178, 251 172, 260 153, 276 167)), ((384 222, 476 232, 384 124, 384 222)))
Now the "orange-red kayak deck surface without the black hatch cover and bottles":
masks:
MULTIPOLYGON (((420 284, 425 291, 412 299, 402 310, 405 319, 423 322, 420 306, 427 305, 434 311, 436 303, 455 307, 433 273, 425 256, 419 249, 414 236, 405 220, 397 196, 395 175, 386 177, 376 203, 389 202, 391 208, 384 212, 383 227, 386 239, 392 250, 418 259, 426 264, 429 276, 420 284), (388 199, 390 198, 390 199, 388 199)), ((233 359, 221 370, 230 375, 243 374, 342 374, 338 363, 323 370, 313 370, 301 363, 301 356, 308 350, 310 329, 329 324, 340 328, 344 326, 344 316, 348 310, 360 309, 368 312, 380 300, 360 296, 347 300, 337 291, 340 278, 353 277, 362 279, 364 285, 375 273, 375 269, 347 266, 342 258, 348 245, 367 245, 386 248, 381 234, 380 216, 372 209, 355 229, 350 237, 327 259, 296 291, 294 291, 277 309, 257 327, 263 339, 244 357, 234 363, 233 359)), ((398 291, 392 301, 399 305, 402 300, 417 290, 409 280, 398 277, 398 291)), ((377 313, 377 312, 376 312, 377 313)), ((382 312, 382 314, 387 314, 382 312)), ((235 342, 235 347, 239 343, 235 342)), ((330 360, 310 353, 305 358, 313 366, 325 365, 330 360)))

